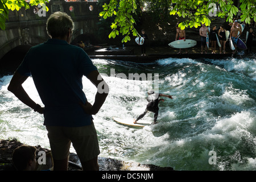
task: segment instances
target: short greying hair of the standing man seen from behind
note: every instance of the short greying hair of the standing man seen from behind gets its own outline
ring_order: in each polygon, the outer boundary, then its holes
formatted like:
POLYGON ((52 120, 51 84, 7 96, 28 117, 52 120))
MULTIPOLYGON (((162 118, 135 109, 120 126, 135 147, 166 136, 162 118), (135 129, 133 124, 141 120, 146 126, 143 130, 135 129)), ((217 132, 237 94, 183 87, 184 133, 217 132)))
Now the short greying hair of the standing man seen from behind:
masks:
POLYGON ((69 29, 74 30, 74 22, 67 13, 57 11, 47 19, 46 30, 52 38, 67 35, 69 29))

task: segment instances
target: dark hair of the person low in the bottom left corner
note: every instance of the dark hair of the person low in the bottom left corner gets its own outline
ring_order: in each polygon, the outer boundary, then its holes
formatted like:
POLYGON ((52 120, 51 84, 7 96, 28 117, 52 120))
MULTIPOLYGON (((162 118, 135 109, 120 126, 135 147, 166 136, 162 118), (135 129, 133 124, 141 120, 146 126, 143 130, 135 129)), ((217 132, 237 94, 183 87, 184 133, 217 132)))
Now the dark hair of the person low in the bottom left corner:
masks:
POLYGON ((36 147, 33 146, 19 146, 13 152, 13 164, 18 171, 23 171, 27 168, 30 160, 35 159, 36 147))

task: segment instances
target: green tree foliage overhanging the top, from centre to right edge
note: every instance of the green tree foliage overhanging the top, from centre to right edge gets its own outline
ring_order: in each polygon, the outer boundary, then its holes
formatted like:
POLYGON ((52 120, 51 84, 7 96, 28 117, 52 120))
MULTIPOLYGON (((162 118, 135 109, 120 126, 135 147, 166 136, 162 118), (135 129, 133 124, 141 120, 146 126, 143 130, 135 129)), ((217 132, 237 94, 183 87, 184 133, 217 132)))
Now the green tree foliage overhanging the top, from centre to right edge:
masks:
POLYGON ((238 10, 241 10, 241 21, 250 24, 251 19, 256 22, 256 0, 240 0, 240 6, 234 5, 232 0, 172 0, 168 1, 159 0, 161 5, 156 5, 155 0, 110 0, 109 3, 105 3, 103 11, 100 16, 104 19, 115 16, 114 22, 111 24, 112 32, 109 34, 109 38, 115 38, 116 35, 122 33, 125 36, 122 42, 130 40, 130 35, 139 36, 137 30, 134 28, 135 20, 134 14, 141 11, 142 7, 137 10, 137 5, 143 6, 144 3, 150 4, 152 7, 156 7, 154 11, 158 9, 169 10, 170 15, 177 15, 183 17, 185 20, 179 24, 181 29, 185 27, 195 27, 205 23, 206 26, 210 25, 209 16, 218 16, 226 18, 226 21, 232 22, 233 16, 237 15, 238 10), (166 3, 164 3, 166 2, 166 3), (165 5, 170 7, 166 7, 165 5), (214 11, 214 7, 218 5, 218 11, 214 11))

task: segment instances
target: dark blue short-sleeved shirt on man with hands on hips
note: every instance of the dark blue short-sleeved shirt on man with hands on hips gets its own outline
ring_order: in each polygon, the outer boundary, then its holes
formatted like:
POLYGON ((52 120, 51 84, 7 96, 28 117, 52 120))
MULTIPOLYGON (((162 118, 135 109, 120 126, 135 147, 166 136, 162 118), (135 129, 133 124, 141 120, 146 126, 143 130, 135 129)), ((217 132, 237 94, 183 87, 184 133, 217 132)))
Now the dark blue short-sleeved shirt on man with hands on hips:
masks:
POLYGON ((79 103, 86 103, 82 76, 96 70, 83 49, 59 39, 32 47, 17 69, 34 80, 45 106, 44 125, 67 127, 91 124, 79 103))

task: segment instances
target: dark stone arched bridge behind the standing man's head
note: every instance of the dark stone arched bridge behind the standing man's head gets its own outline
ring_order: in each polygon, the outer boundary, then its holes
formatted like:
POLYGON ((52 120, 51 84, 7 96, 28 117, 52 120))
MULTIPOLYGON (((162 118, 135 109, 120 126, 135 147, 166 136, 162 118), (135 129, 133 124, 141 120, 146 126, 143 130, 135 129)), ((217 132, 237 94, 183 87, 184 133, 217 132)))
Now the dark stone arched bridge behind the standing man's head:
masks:
MULTIPOLYGON (((6 30, 0 30, 0 74, 8 71, 9 64, 11 67, 13 64, 18 65, 31 46, 49 39, 46 21, 56 11, 67 13, 75 23, 71 44, 76 44, 79 40, 86 39, 88 43, 95 40, 93 32, 97 30, 96 23, 99 20, 97 2, 51 0, 47 7, 47 12, 40 5, 30 6, 27 10, 22 8, 19 11, 9 11, 6 30)), ((47 55, 42 53, 42 56, 47 55)))

